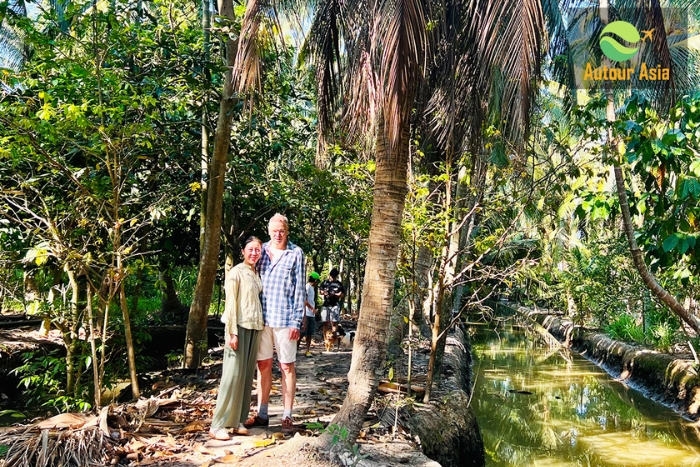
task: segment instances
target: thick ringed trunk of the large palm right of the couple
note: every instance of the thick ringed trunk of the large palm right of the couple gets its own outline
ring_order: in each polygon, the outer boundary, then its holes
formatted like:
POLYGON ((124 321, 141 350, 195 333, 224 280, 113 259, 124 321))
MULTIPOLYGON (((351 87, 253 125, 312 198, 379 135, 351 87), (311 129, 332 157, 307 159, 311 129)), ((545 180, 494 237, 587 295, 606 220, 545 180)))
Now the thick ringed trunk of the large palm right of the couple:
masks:
MULTIPOLYGON (((348 440, 357 438, 365 414, 374 399, 383 374, 389 321, 394 297, 396 260, 401 239, 401 221, 406 199, 409 128, 404 124, 401 141, 393 157, 387 157, 384 122, 377 129, 377 168, 374 206, 369 233, 362 308, 348 372, 348 392, 333 423, 348 430, 348 440)), ((330 443, 330 436, 320 442, 330 443)))

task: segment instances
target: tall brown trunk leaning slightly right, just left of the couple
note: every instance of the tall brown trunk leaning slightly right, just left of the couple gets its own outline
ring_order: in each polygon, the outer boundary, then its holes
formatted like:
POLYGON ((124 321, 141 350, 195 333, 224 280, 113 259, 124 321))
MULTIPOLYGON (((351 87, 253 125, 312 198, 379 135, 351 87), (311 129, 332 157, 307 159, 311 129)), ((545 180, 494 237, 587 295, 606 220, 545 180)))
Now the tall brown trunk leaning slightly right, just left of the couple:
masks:
MULTIPOLYGON (((232 0, 220 0, 219 14, 233 21, 232 0)), ((236 59, 236 43, 226 40, 226 62, 228 68, 224 73, 224 89, 221 94, 219 118, 214 136, 214 154, 209 166, 209 186, 207 193, 206 223, 204 231, 204 248, 199 261, 199 274, 194 297, 187 320, 187 337, 185 338, 185 358, 183 366, 194 369, 199 366, 207 350, 207 316, 211 304, 216 269, 219 264, 219 247, 221 246, 221 218, 226 176, 226 160, 231 143, 231 117, 234 107, 232 69, 236 59)))

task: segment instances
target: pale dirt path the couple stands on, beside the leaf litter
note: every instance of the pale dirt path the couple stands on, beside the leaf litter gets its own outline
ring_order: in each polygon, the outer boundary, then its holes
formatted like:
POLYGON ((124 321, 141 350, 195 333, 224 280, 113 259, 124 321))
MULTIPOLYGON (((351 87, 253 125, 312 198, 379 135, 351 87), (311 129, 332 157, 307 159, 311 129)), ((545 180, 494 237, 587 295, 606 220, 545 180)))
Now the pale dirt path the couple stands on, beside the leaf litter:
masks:
MULTIPOLYGON (((279 368, 275 364, 273 386, 270 397, 270 426, 253 428, 248 436, 233 436, 229 441, 212 440, 205 430, 190 440, 190 448, 177 457, 163 459, 146 458, 138 464, 169 467, 193 466, 294 466, 330 467, 328 453, 319 452, 313 445, 313 437, 318 436, 321 425, 327 425, 340 409, 347 390, 347 372, 352 359, 351 349, 341 348, 327 352, 323 344, 314 341, 312 356, 300 353, 297 358, 297 394, 294 404, 294 420, 299 433, 294 437, 281 432, 281 391, 279 368)), ((220 364, 217 365, 220 367, 220 364)), ((212 368, 220 371, 219 368, 212 368)), ((214 391, 212 391, 214 392, 214 391)), ((213 394, 212 394, 213 396, 213 394)), ((255 407, 255 390, 251 406, 255 407)), ((409 443, 405 435, 396 439, 391 435, 391 427, 386 426, 374 411, 370 411, 365 429, 358 439, 359 450, 351 461, 358 466, 399 467, 416 465, 439 466, 423 456, 409 443)))

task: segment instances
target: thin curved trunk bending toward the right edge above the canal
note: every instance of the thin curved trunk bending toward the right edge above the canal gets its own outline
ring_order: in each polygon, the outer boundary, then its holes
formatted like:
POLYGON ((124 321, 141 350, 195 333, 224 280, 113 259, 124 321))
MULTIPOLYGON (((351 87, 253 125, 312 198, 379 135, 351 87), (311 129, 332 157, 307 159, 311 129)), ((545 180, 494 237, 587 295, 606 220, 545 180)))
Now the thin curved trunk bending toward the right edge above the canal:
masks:
MULTIPOLYGON (((600 2, 600 19, 603 23, 603 27, 608 24, 608 1, 602 0, 600 2)), ((604 65, 610 67, 610 60, 604 58, 604 65)), ((615 122, 615 102, 613 101, 613 93, 610 87, 610 83, 606 82, 605 93, 607 95, 607 107, 606 107, 606 117, 608 122, 611 123, 608 128, 608 148, 609 154, 613 156, 617 150, 616 141, 613 139, 612 134, 612 123, 615 122)), ((696 333, 700 334, 700 320, 690 313, 681 305, 681 303, 676 300, 676 298, 668 293, 661 284, 656 281, 656 278, 649 272, 647 265, 644 262, 644 257, 642 251, 637 245, 637 240, 634 237, 634 226, 632 225, 632 216, 630 214, 630 207, 627 201, 627 190, 625 189, 625 176, 622 173, 622 167, 620 167, 620 161, 614 157, 613 172, 615 173, 615 186, 617 188, 617 197, 620 202, 620 212, 622 214, 622 225, 627 235, 627 243, 630 247, 630 253, 632 254, 632 261, 634 266, 637 268, 639 275, 642 277, 644 285, 649 288, 651 293, 654 294, 661 302, 663 302, 667 307, 671 309, 679 318, 685 321, 688 326, 690 326, 696 333)))

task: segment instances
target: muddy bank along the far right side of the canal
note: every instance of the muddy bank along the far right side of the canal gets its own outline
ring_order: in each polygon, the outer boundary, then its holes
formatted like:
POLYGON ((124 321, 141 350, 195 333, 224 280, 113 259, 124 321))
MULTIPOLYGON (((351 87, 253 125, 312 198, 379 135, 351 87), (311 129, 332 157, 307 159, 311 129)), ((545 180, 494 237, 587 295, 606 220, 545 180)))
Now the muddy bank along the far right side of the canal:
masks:
POLYGON ((619 342, 578 328, 561 316, 527 307, 518 307, 518 312, 542 325, 564 345, 601 366, 614 378, 688 419, 700 419, 700 377, 692 359, 619 342))

